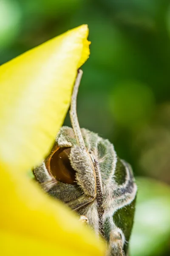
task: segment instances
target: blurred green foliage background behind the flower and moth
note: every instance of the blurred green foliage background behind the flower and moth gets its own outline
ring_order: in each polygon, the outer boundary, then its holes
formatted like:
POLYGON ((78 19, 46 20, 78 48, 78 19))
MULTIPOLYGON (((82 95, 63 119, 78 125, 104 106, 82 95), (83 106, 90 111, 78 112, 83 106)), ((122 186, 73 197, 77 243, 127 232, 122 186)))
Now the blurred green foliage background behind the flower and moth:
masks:
POLYGON ((170 255, 170 0, 0 0, 0 64, 83 23, 80 125, 133 166, 131 255, 170 255))

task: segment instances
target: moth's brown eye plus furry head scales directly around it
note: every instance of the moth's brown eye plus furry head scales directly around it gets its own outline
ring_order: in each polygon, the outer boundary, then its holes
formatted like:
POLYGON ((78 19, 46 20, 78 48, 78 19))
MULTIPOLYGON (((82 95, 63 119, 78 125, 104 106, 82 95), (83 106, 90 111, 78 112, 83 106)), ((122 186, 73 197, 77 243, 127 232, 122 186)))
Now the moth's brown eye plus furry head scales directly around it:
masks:
POLYGON ((69 159, 71 148, 76 144, 73 129, 62 127, 48 156, 33 170, 42 188, 65 203, 82 195, 76 180, 76 171, 69 159))

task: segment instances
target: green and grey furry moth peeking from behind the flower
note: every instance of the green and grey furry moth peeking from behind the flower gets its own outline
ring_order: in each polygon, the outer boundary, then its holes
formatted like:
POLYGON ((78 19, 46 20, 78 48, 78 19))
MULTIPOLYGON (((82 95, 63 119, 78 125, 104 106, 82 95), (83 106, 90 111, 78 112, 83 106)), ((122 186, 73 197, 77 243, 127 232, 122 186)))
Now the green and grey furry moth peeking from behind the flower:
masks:
POLYGON ((72 128, 63 126, 46 159, 33 170, 42 188, 68 205, 107 242, 107 256, 127 256, 133 227, 137 186, 133 172, 113 145, 98 134, 80 129, 78 70, 71 98, 72 128))

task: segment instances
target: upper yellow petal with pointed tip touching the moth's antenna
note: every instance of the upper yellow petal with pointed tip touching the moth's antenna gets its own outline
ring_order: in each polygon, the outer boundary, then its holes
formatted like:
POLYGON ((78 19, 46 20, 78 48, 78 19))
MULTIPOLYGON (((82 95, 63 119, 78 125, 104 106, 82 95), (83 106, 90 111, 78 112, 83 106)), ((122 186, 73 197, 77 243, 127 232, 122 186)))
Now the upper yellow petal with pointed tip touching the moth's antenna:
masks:
POLYGON ((26 171, 48 153, 89 55, 87 25, 0 66, 0 162, 26 171))

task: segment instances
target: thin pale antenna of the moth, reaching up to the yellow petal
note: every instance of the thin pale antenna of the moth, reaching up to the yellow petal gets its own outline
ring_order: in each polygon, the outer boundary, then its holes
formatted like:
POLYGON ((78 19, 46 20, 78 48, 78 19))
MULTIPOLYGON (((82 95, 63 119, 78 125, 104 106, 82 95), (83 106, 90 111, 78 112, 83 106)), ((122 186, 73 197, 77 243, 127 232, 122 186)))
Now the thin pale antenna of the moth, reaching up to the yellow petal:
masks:
POLYGON ((82 137, 82 133, 79 126, 79 121, 77 117, 77 93, 79 90, 79 84, 82 78, 82 70, 78 70, 77 72, 77 78, 74 84, 73 93, 71 96, 71 106, 70 106, 70 119, 71 119, 71 125, 73 127, 73 131, 76 137, 77 144, 80 146, 80 148, 85 149, 85 142, 82 137))

